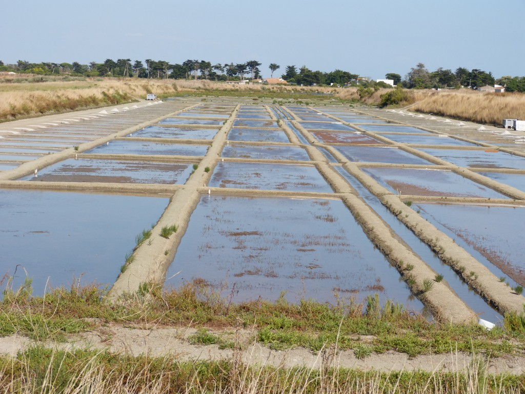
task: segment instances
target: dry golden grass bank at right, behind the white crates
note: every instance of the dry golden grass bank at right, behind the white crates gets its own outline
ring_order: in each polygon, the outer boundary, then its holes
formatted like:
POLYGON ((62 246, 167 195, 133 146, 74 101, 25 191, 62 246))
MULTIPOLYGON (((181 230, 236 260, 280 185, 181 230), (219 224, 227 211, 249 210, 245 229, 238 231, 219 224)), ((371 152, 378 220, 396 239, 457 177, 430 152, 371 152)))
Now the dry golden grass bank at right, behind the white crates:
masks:
POLYGON ((453 91, 412 90, 414 111, 500 126, 502 119, 525 119, 525 95, 453 91))

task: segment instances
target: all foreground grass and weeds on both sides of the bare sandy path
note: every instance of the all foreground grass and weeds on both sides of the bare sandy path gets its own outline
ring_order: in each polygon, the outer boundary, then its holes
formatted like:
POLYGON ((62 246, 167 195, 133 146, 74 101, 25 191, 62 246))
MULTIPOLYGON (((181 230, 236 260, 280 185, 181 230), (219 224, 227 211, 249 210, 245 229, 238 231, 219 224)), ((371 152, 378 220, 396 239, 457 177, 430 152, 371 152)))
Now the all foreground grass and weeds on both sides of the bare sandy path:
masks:
MULTIPOLYGON (((4 291, 0 336, 23 335, 40 344, 60 343, 97 324, 126 327, 197 327, 193 344, 217 344, 233 350, 223 361, 180 361, 175 356, 132 357, 107 350, 59 350, 36 345, 16 357, 0 356, 3 392, 520 392, 525 377, 490 375, 488 358, 521 352, 523 334, 507 328, 430 323, 422 316, 378 297, 366 305, 337 299, 334 305, 284 297, 235 304, 207 288, 188 284, 162 292, 153 286, 110 303, 96 286, 57 288, 31 296, 30 281, 4 291), (96 320, 98 323, 93 323, 96 320), (312 368, 249 366, 243 346, 217 332, 253 329, 253 341, 273 349, 302 346, 319 356, 312 368), (213 333, 212 330, 213 329, 213 333), (362 336, 367 336, 366 340, 362 336), (39 342, 38 342, 39 341, 39 342), (334 368, 337 350, 353 349, 358 358, 386 350, 415 357, 465 351, 473 361, 460 372, 393 371, 334 368)), ((461 366, 463 367, 463 366, 461 366)))

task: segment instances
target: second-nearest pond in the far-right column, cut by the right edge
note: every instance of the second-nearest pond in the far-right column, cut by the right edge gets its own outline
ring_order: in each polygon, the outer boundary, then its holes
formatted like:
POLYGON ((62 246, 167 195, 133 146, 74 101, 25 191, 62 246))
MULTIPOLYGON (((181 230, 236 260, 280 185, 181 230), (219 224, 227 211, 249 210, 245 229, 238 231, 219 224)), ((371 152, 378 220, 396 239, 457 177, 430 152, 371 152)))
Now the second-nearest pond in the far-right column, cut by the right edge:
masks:
POLYGON ((503 152, 456 149, 418 149, 461 167, 516 168, 525 170, 525 158, 503 152))

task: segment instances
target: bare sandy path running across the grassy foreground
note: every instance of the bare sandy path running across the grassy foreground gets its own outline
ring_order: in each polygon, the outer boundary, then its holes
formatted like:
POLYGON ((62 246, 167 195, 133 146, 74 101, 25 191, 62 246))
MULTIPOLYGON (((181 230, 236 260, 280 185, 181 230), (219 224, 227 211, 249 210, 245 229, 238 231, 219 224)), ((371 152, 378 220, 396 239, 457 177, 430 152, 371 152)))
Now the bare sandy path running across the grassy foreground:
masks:
MULTIPOLYGON (((395 371, 423 370, 433 372, 440 370, 452 372, 464 370, 470 363, 471 355, 463 352, 447 354, 428 354, 414 358, 396 351, 383 354, 372 353, 365 358, 357 358, 353 350, 339 350, 333 357, 333 348, 324 352, 314 352, 301 347, 288 350, 271 350, 255 341, 256 331, 239 329, 232 331, 211 330, 212 334, 238 345, 245 350, 219 349, 217 345, 193 345, 188 339, 196 333, 195 328, 188 327, 123 327, 116 324, 99 324, 96 329, 87 333, 72 335, 65 343, 45 343, 50 348, 60 349, 93 349, 108 350, 132 356, 149 355, 162 357, 175 356, 184 360, 221 360, 233 359, 240 355, 241 360, 250 365, 269 365, 274 367, 307 367, 318 369, 323 362, 330 366, 354 368, 360 370, 395 371)), ((363 344, 370 342, 372 336, 360 336, 363 344)), ((18 335, 0 338, 0 354, 16 356, 34 341, 18 335)), ((489 373, 508 372, 519 375, 525 372, 525 357, 521 352, 501 357, 489 358, 489 373)))

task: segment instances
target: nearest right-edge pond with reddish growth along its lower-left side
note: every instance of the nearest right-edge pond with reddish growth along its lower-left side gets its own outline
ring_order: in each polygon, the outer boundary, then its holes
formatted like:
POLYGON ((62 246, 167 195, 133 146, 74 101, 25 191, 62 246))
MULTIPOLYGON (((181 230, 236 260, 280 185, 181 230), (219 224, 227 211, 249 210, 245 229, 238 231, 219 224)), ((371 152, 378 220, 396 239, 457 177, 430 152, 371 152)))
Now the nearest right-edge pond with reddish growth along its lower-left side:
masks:
POLYGON ((491 263, 487 267, 496 276, 503 272, 525 286, 524 207, 422 203, 416 206, 430 223, 442 225, 485 257, 491 263))

